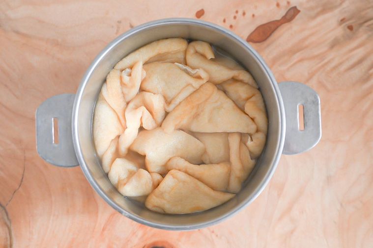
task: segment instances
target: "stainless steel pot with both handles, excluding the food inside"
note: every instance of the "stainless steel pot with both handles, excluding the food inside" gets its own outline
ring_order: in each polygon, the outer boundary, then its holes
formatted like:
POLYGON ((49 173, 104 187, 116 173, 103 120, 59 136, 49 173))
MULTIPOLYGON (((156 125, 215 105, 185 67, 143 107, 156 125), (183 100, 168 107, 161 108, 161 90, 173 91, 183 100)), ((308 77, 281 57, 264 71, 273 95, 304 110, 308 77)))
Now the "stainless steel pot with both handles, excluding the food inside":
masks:
POLYGON ((36 111, 37 150, 51 164, 80 164, 95 191, 122 215, 152 227, 190 230, 219 223, 250 204, 274 173, 281 154, 313 148, 321 138, 320 99, 297 82, 278 84, 259 54, 231 31, 193 19, 165 19, 146 23, 120 35, 94 59, 76 95, 63 94, 44 101, 36 111), (183 37, 209 42, 228 52, 254 76, 268 112, 268 136, 258 163, 244 187, 230 201, 188 215, 152 212, 121 196, 101 168, 92 139, 92 115, 106 75, 125 55, 152 41, 183 37), (298 128, 298 104, 304 105, 304 130, 298 128), (58 119, 59 142, 54 144, 52 119, 58 119))

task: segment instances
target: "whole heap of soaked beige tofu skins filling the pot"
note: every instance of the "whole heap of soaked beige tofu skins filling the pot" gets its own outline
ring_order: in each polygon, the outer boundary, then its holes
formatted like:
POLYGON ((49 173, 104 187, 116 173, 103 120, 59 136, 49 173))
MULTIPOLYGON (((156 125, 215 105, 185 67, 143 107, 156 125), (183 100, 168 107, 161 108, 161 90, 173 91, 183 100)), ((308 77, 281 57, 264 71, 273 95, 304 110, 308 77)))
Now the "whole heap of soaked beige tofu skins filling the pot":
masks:
POLYGON ((251 74, 215 51, 202 41, 158 40, 107 75, 93 141, 121 195, 189 214, 241 190, 265 145, 266 109, 251 74))

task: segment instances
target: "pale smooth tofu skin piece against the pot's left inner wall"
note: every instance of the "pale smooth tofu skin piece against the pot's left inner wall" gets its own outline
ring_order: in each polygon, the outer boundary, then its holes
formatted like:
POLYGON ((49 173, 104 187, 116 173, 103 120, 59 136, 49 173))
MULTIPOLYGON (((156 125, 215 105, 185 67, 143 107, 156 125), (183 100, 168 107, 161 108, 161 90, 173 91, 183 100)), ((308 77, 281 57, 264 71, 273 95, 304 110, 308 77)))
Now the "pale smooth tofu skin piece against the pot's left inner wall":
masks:
POLYGON ((114 109, 100 94, 93 114, 93 141, 100 158, 102 158, 112 140, 123 131, 124 128, 114 109))

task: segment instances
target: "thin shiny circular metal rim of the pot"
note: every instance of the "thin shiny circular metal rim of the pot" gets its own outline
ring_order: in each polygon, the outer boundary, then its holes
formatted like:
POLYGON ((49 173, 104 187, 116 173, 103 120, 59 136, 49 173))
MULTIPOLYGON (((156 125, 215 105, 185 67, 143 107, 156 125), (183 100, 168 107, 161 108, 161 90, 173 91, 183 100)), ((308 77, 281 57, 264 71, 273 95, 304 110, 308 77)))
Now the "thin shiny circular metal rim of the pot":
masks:
POLYGON ((107 203, 109 203, 116 211, 118 211, 122 215, 130 218, 131 220, 134 220, 138 223, 142 223, 142 224, 145 224, 145 225, 148 225, 148 226, 151 226, 151 227, 156 227, 156 228, 166 229, 166 230, 192 230, 192 229, 198 229, 198 228, 203 228, 203 227, 206 227, 206 226, 214 225, 214 224, 222 222, 227 217, 232 216, 233 214, 237 213, 242 208, 249 205, 263 191, 263 189, 268 184, 269 180, 271 179, 272 175, 275 172, 275 169, 276 169, 276 167, 279 163, 279 160, 280 160, 280 157, 281 157, 281 154, 282 154, 282 151, 283 151, 284 142, 285 142, 285 134, 286 134, 285 132, 286 132, 285 109, 284 109, 284 103, 283 103, 283 99, 281 97, 280 89, 277 85, 277 81, 274 78, 272 72, 270 71, 269 67, 266 65, 264 60, 260 57, 258 52, 256 50, 254 50, 242 38, 240 38, 239 36, 237 36, 236 34, 231 32, 230 30, 227 30, 224 27, 221 27, 219 25, 215 25, 215 24, 212 24, 212 23, 209 23, 209 22, 201 21, 201 20, 188 19, 188 18, 170 18, 170 19, 162 19, 162 20, 157 20, 157 21, 153 21, 153 22, 148 22, 148 23, 145 23, 143 25, 139 25, 137 27, 134 27, 134 28, 130 29, 129 31, 121 34, 115 40, 113 40, 108 46, 106 46, 95 57, 95 59, 93 60, 93 62, 89 66, 89 68, 87 69, 86 74, 83 76, 83 79, 82 79, 82 81, 79 85, 78 91, 76 93, 76 97, 75 97, 75 100, 74 100, 73 112, 72 112, 72 135, 73 135, 73 144, 74 144, 74 148, 75 148, 75 153, 76 153, 77 159, 79 161, 80 167, 82 168, 82 171, 86 176, 86 179, 91 184, 91 186, 94 188, 94 190, 102 198, 104 198, 105 201, 107 203), (83 158, 82 150, 80 148, 80 143, 79 143, 79 136, 78 136, 78 109, 79 109, 79 105, 80 105, 80 102, 81 102, 81 99, 82 99, 82 94, 83 94, 83 91, 86 88, 86 83, 87 83, 90 75, 95 70, 99 61, 110 50, 112 50, 117 44, 121 43, 127 37, 129 37, 129 36, 131 36, 131 35, 133 35, 137 32, 141 32, 142 30, 150 28, 150 27, 159 26, 159 25, 172 25, 172 24, 189 24, 189 25, 192 24, 192 25, 207 26, 207 27, 215 29, 215 30, 227 35, 227 36, 230 36, 231 38, 234 38, 236 41, 241 43, 241 45, 243 45, 247 50, 249 50, 252 53, 252 55, 256 58, 256 60, 260 63, 259 66, 263 69, 263 71, 265 71, 265 73, 269 77, 269 79, 270 79, 270 81, 271 81, 271 83, 274 87, 274 91, 276 93, 276 98, 277 98, 276 101, 279 103, 278 104, 278 106, 279 106, 278 111, 279 111, 279 116, 280 116, 280 120, 279 120, 280 135, 279 135, 279 138, 277 140, 276 153, 274 155, 273 163, 270 166, 270 169, 268 170, 269 173, 267 173, 265 175, 265 177, 263 178, 263 180, 260 182, 260 184, 257 187, 257 190, 256 190, 255 194, 253 194, 251 198, 248 198, 247 201, 237 205, 232 211, 227 212, 227 213, 219 216, 218 218, 216 218, 214 220, 211 220, 211 221, 208 221, 208 222, 205 222, 205 223, 200 223, 200 224, 188 225, 188 226, 174 226, 174 225, 158 224, 158 223, 149 222, 146 219, 143 219, 141 217, 132 215, 131 213, 122 209, 118 204, 116 204, 111 198, 109 198, 104 193, 104 191, 101 189, 101 187, 94 180, 93 176, 90 174, 89 169, 87 168, 87 165, 86 165, 85 160, 83 158))

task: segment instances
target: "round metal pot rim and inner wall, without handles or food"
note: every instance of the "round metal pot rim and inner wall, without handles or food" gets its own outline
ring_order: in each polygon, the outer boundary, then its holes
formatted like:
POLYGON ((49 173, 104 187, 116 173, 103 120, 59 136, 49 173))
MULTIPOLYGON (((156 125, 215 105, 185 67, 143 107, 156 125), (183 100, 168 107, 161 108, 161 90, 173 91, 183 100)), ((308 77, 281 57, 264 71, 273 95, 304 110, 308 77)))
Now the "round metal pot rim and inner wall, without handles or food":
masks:
POLYGON ((271 177, 281 155, 285 136, 282 99, 276 81, 258 54, 232 32, 189 19, 161 20, 124 33, 103 50, 86 72, 77 93, 73 113, 73 138, 77 157, 88 181, 109 204, 123 215, 143 224, 165 229, 195 229, 217 223, 254 200, 271 177), (213 209, 188 215, 159 214, 118 193, 101 168, 92 138, 92 116, 106 75, 124 56, 152 41, 182 37, 201 40, 226 51, 255 78, 266 105, 266 147, 242 190, 230 201, 213 209))

